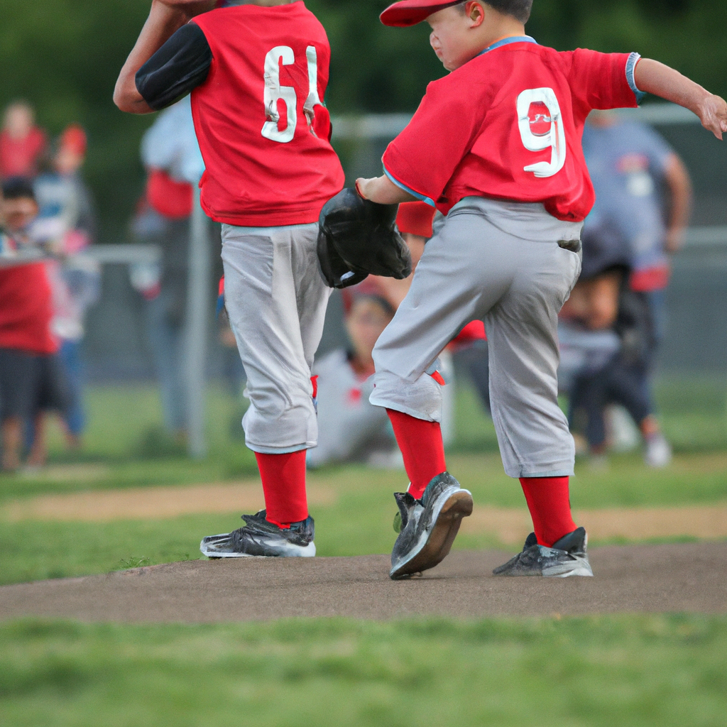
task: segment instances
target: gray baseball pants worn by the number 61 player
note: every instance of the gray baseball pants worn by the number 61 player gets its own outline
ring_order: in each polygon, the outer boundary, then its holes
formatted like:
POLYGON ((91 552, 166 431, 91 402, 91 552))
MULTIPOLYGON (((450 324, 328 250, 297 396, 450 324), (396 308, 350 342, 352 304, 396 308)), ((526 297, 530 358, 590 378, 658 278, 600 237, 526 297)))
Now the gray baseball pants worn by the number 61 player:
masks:
POLYGON ((331 289, 316 262, 318 224, 222 225, 225 307, 247 375, 245 443, 262 454, 318 442, 310 367, 331 289))

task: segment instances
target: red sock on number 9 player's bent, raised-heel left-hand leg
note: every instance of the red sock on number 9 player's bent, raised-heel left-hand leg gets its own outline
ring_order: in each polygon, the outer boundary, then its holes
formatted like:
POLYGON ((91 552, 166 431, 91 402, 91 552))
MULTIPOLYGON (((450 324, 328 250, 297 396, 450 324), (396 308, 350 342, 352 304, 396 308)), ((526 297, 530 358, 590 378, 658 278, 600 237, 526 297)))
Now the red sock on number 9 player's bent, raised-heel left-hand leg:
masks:
POLYGON ((419 499, 430 481, 447 468, 439 422, 425 422, 393 409, 387 409, 386 413, 411 481, 409 492, 419 499))

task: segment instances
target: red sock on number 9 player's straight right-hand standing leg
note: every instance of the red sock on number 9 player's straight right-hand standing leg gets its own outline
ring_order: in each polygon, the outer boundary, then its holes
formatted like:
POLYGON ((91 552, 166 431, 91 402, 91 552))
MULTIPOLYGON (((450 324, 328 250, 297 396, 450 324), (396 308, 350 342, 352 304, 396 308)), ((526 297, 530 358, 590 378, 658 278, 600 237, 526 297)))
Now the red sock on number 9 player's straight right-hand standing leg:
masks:
POLYGON ((540 545, 550 547, 576 529, 571 517, 568 477, 521 477, 520 483, 540 545))

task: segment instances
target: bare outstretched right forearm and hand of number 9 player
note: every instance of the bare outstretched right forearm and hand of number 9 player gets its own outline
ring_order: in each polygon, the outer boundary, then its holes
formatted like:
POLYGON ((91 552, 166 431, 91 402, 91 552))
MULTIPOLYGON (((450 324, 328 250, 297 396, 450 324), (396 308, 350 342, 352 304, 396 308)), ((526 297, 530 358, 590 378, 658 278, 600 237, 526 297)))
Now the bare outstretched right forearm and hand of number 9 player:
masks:
POLYGON ((721 140, 727 132, 727 103, 679 71, 649 58, 636 64, 634 80, 640 91, 678 103, 699 116, 702 126, 721 140))

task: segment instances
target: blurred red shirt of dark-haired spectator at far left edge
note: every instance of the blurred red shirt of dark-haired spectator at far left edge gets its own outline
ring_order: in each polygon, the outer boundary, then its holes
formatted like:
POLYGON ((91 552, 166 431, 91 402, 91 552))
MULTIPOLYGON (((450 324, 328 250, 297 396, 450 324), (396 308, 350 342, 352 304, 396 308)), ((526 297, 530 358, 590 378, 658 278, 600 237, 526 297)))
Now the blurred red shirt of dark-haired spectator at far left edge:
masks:
POLYGON ((43 262, 0 268, 0 348, 55 353, 52 317, 52 292, 43 262))

